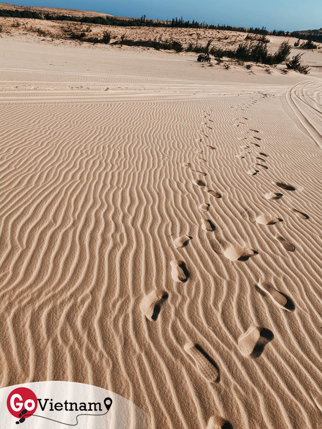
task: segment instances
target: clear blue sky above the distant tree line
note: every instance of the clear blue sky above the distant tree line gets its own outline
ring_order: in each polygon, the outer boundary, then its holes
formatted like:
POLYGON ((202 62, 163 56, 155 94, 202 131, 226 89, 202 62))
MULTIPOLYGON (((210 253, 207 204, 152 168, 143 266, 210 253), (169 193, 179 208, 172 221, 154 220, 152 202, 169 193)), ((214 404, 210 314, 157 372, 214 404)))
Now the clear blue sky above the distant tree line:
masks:
MULTIPOLYGON (((5 0, 6 1, 6 0, 5 0)), ((8 0, 7 0, 8 2, 8 0)), ((24 6, 47 6, 104 12, 125 17, 181 17, 208 24, 308 30, 322 27, 322 0, 22 0, 24 6)))

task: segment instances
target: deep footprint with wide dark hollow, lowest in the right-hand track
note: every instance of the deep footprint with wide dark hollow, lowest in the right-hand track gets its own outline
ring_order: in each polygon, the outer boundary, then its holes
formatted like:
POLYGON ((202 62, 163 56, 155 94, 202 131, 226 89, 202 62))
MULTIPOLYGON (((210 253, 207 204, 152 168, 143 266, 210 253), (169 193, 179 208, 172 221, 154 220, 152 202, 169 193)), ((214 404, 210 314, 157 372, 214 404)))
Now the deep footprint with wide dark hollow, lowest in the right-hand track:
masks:
POLYGON ((266 344, 274 338, 270 329, 251 325, 238 338, 238 346, 243 356, 258 358, 264 351, 266 344))

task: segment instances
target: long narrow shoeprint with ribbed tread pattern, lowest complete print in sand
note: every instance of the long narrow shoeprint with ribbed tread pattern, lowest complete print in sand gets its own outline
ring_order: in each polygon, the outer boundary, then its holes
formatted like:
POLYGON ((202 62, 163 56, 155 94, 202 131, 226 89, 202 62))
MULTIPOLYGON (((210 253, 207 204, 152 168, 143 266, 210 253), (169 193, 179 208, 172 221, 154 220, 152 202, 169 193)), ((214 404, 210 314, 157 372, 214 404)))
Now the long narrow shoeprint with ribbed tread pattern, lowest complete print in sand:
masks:
POLYGON ((219 369, 214 360, 198 345, 187 342, 184 350, 195 361, 200 374, 210 383, 219 381, 219 369))

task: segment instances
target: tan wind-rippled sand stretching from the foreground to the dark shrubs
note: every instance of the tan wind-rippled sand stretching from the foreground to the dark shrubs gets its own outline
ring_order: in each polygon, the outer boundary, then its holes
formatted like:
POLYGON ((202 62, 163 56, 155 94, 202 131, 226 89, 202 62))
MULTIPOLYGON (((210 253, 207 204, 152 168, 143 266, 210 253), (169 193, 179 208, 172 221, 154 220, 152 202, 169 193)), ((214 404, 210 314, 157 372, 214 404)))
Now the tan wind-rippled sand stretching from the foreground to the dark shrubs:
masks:
POLYGON ((0 44, 1 386, 99 386, 149 429, 321 427, 320 52, 209 67, 31 21, 0 44))

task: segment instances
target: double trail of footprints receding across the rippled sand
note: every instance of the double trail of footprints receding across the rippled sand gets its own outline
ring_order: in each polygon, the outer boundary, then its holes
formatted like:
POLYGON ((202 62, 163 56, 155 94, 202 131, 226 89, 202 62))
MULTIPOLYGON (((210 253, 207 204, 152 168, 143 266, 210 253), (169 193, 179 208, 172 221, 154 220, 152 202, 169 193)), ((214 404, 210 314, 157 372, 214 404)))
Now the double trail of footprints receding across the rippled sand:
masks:
MULTIPOLYGON (((210 116, 209 114, 207 115, 210 116)), ((248 118, 244 118, 244 119, 248 120, 248 118)), ((209 118, 208 120, 210 121, 209 118)), ((255 129, 249 129, 249 131, 252 131, 253 133, 260 133, 259 130, 255 130, 255 129)), ((243 140, 244 139, 249 140, 249 137, 244 137, 243 140)), ((261 145, 259 144, 259 142, 261 141, 260 137, 253 135, 252 139, 256 140, 256 142, 250 141, 248 145, 241 146, 241 149, 244 150, 244 152, 237 155, 238 158, 244 159, 252 155, 251 150, 248 150, 248 149, 251 149, 250 144, 252 144, 255 148, 261 147, 261 145)), ((206 145, 206 147, 210 150, 216 149, 214 146, 211 146, 211 145, 206 145)), ((201 154, 203 151, 199 151, 199 152, 201 154)), ((269 155, 266 154, 265 152, 258 152, 255 156, 255 162, 253 163, 251 168, 247 170, 247 173, 251 176, 256 176, 258 173, 260 173, 260 170, 262 171, 267 170, 269 168, 266 165, 266 159, 268 157, 269 155)), ((199 156, 198 159, 203 162, 207 162, 207 160, 202 158, 201 156, 199 156)), ((191 169, 190 162, 185 162, 183 164, 183 167, 186 169, 191 169)), ((195 174, 199 174, 203 178, 207 176, 207 174, 204 171, 191 169, 191 172, 195 174)), ((219 199, 222 197, 219 192, 214 191, 207 187, 205 179, 193 178, 192 184, 198 187, 199 189, 201 189, 202 191, 204 191, 206 195, 210 195, 216 199, 219 199)), ((296 191, 296 189, 292 185, 285 184, 280 181, 273 181, 272 185, 284 191, 288 191, 288 192, 296 191)), ((266 198, 267 200, 274 201, 282 198, 283 194, 280 192, 270 191, 266 193, 263 197, 266 198)), ((203 231, 205 231, 206 233, 213 232, 216 229, 216 226, 211 221, 211 219, 206 217, 206 213, 209 211, 210 207, 211 205, 209 203, 203 203, 198 207, 199 212, 203 214, 203 217, 200 220, 200 226, 203 229, 203 231)), ((301 212, 300 210, 292 208, 290 211, 300 219, 303 219, 303 220, 309 219, 309 216, 301 212)), ((263 213, 257 216, 255 221, 258 225, 274 225, 279 222, 282 222, 283 219, 280 219, 275 215, 263 213)), ((179 251, 180 249, 186 247, 192 239, 193 237, 189 235, 181 235, 174 239, 173 246, 179 251)), ((275 234, 274 239, 280 243, 280 246, 283 250, 286 250, 288 252, 293 252, 295 250, 295 246, 292 243, 290 243, 286 238, 282 237, 281 235, 275 234)), ((252 249, 245 244, 236 244, 236 243, 229 244, 228 247, 223 251, 223 255, 225 256, 225 258, 227 258, 229 261, 232 261, 232 262, 248 261, 249 258, 251 258, 256 254, 258 254, 257 250, 252 249)), ((181 259, 172 260, 170 262, 170 268, 171 268, 171 276, 174 282, 184 283, 188 281, 189 271, 184 261, 182 261, 181 259)), ((259 292, 265 299, 270 300, 273 304, 275 304, 277 307, 279 307, 282 310, 289 312, 295 309, 294 303, 290 299, 290 297, 288 297, 283 292, 278 291, 277 289, 275 289, 273 285, 271 285, 270 283, 266 282, 263 279, 259 280, 258 284, 255 286, 255 290, 259 292)), ((162 307, 164 306, 164 303, 167 301, 168 298, 169 298, 169 294, 166 291, 157 292, 156 290, 153 290, 150 294, 148 294, 142 300, 142 303, 141 303, 141 309, 146 319, 149 321, 156 321, 162 307)), ((265 346, 273 338, 274 338, 274 334, 270 329, 251 324, 249 328, 239 336, 237 345, 241 355, 243 355, 244 357, 256 359, 261 356, 265 346)), ((186 354, 189 356, 191 361, 195 364, 200 375, 207 382, 218 383, 220 381, 220 372, 217 364, 211 358, 211 356, 209 356, 207 352, 204 349, 202 349, 200 345, 195 344, 194 342, 191 342, 189 340, 188 342, 186 342, 183 349, 186 352, 186 354)), ((225 420, 223 417, 217 414, 214 414, 208 420, 207 429, 211 429, 214 427, 232 428, 232 425, 228 420, 225 420)))

